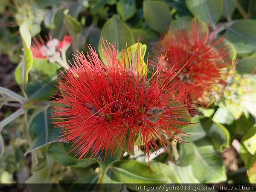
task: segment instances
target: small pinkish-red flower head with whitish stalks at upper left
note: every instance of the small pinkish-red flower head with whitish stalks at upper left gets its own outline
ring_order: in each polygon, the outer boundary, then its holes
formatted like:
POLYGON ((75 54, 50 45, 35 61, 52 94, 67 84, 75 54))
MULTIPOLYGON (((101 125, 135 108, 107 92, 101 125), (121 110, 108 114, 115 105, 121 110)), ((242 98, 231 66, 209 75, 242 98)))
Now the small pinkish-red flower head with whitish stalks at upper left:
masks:
POLYGON ((52 38, 50 35, 45 42, 41 37, 39 41, 34 38, 31 46, 33 57, 36 59, 48 59, 49 62, 57 62, 64 68, 69 68, 66 61, 66 51, 72 42, 70 36, 65 36, 63 41, 52 38))

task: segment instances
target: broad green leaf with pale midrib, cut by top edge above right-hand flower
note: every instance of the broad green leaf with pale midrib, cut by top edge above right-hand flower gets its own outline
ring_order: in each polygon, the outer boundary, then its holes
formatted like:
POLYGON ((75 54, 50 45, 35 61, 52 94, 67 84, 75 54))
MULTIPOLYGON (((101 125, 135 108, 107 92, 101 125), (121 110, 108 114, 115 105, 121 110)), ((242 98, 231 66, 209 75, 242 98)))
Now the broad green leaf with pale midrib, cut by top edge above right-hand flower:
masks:
POLYGON ((222 0, 186 0, 189 11, 204 23, 215 25, 222 12, 222 0))

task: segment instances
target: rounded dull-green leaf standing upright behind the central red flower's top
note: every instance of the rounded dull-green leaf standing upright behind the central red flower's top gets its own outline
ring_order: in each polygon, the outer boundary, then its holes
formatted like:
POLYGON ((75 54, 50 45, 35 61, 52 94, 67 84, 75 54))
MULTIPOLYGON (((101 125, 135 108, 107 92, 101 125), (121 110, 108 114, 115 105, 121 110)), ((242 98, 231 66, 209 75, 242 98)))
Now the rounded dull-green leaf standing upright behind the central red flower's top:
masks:
POLYGON ((128 46, 134 44, 134 37, 130 29, 124 23, 122 23, 119 16, 117 15, 114 15, 104 24, 100 34, 98 51, 100 58, 103 62, 105 62, 101 51, 102 38, 104 41, 108 41, 108 43, 115 43, 116 49, 119 51, 126 49, 126 44, 128 46))

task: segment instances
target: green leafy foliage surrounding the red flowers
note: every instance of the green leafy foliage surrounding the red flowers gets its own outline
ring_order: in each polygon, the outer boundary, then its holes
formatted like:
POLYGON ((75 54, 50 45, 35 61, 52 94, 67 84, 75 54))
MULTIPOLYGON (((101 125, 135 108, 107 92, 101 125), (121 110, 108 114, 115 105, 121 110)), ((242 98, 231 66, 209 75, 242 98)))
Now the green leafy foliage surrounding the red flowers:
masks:
MULTIPOLYGON (((23 116, 4 128, 0 123, 0 183, 256 183, 255 0, 14 2, 3 0, 0 5, 0 22, 17 23, 0 26, 0 54, 17 63, 15 79, 29 102, 21 101, 23 116), (31 38, 47 33, 58 39, 71 35, 70 59, 76 49, 87 51, 88 44, 102 56, 101 38, 116 42, 121 50, 140 35, 151 58, 154 42, 167 27, 182 28, 195 17, 217 29, 219 37, 226 37, 237 73, 229 92, 210 108, 200 108, 200 115, 192 119, 199 123, 185 128, 190 136, 183 140, 189 143, 172 148, 176 164, 167 153, 152 154, 150 173, 143 151, 134 150, 129 157, 108 156, 106 161, 78 160, 67 154, 69 144, 56 142, 58 130, 49 119, 49 100, 61 67, 33 59, 31 38)), ((9 115, 7 111, 4 116, 9 115)))

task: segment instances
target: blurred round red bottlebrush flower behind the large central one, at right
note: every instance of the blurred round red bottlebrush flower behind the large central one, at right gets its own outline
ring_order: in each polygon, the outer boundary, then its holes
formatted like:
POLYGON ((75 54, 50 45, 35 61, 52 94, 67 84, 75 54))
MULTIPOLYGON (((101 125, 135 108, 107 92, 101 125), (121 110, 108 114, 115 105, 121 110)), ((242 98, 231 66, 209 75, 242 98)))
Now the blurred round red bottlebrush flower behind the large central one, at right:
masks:
POLYGON ((183 84, 178 94, 186 103, 204 103, 204 94, 217 83, 224 83, 222 74, 231 63, 224 38, 215 41, 214 32, 208 32, 209 27, 192 22, 191 29, 169 29, 154 48, 160 63, 167 68, 166 75, 177 72, 183 84))

